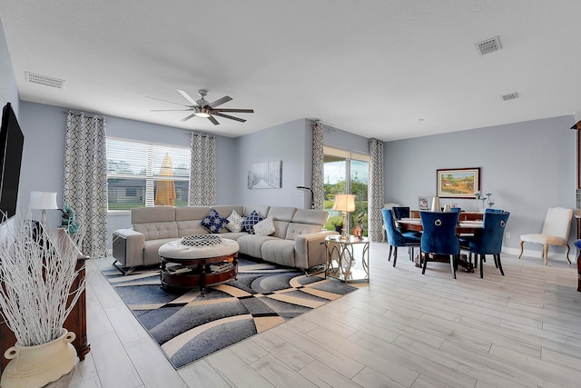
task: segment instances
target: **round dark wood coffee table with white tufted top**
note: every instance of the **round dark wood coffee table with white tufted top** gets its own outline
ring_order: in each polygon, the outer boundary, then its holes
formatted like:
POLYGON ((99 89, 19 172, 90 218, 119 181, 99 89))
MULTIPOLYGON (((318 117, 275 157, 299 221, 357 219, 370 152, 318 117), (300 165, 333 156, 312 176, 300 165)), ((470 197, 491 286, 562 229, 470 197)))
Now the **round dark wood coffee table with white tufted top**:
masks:
POLYGON ((182 239, 160 246, 162 288, 223 284, 238 274, 238 243, 222 238, 219 244, 192 246, 182 239))

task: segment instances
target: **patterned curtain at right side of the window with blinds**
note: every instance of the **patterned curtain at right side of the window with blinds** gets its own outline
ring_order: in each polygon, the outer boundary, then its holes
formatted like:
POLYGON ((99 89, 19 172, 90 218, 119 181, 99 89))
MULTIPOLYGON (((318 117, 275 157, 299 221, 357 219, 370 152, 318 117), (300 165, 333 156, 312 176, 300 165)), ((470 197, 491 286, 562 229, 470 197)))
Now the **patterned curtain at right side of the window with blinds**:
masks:
POLYGON ((216 204, 216 138, 193 133, 190 140, 190 205, 216 204))

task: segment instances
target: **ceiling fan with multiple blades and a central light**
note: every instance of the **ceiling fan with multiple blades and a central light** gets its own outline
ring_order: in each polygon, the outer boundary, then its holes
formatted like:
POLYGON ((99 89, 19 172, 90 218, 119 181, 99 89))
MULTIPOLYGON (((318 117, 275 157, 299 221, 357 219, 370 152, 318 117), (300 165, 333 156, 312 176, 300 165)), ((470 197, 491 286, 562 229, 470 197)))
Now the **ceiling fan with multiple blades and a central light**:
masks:
POLYGON ((179 104, 179 103, 174 103, 172 101, 167 101, 167 100, 162 100, 161 98, 155 98, 155 97, 149 97, 148 98, 153 98, 153 100, 159 100, 159 101, 163 101, 166 103, 171 103, 171 104, 178 104, 178 105, 183 105, 185 106, 187 109, 153 109, 152 112, 168 112, 168 111, 192 111, 192 114, 183 117, 181 121, 188 121, 190 120, 192 117, 206 117, 208 120, 210 120, 212 122, 212 124, 214 125, 219 125, 220 123, 218 123, 218 120, 216 120, 213 116, 221 116, 224 118, 229 118, 231 120, 236 120, 236 121, 240 121, 241 123, 244 123, 246 120, 244 120, 243 118, 240 117, 234 117, 230 114, 224 114, 224 112, 228 112, 228 113, 240 113, 240 114, 253 114, 254 110, 253 109, 228 109, 228 108, 217 108, 217 106, 220 106, 222 104, 225 104, 229 101, 232 100, 232 97, 229 95, 224 95, 222 98, 217 99, 216 101, 209 103, 205 100, 205 96, 208 94, 208 91, 206 89, 200 89, 198 90, 198 95, 200 95, 202 98, 200 98, 199 100, 194 100, 190 95, 188 95, 187 93, 185 93, 183 90, 180 89, 176 89, 181 95, 183 95, 183 97, 188 100, 188 102, 191 105, 186 105, 186 104, 179 104))

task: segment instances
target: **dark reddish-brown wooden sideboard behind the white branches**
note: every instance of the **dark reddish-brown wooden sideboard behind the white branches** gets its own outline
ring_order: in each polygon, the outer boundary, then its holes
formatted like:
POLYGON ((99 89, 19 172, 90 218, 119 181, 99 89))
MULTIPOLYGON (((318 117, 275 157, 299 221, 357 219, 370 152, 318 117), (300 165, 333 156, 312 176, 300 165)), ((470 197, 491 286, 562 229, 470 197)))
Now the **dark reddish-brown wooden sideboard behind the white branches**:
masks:
MULTIPOLYGON (((68 241, 73 244, 73 242, 70 240, 70 237, 64 232, 64 230, 63 232, 59 230, 59 238, 61 237, 68 239, 68 241)), ((88 257, 79 252, 79 256, 76 261, 76 270, 78 271, 81 268, 83 269, 74 280, 73 286, 71 287, 73 290, 76 289, 81 280, 84 279, 84 262, 87 258, 88 257)), ((87 339, 87 308, 86 294, 84 291, 81 293, 77 303, 74 305, 73 310, 64 321, 64 328, 76 335, 76 338, 73 341, 73 345, 76 349, 77 355, 79 356, 79 360, 83 361, 84 356, 91 351, 91 345, 87 339)), ((0 372, 3 371, 6 365, 10 362, 10 360, 6 359, 4 356, 6 349, 8 349, 10 346, 14 346, 15 343, 15 333, 13 333, 8 328, 4 319, 0 317, 0 357, 2 358, 2 363, 0 363, 0 372)))

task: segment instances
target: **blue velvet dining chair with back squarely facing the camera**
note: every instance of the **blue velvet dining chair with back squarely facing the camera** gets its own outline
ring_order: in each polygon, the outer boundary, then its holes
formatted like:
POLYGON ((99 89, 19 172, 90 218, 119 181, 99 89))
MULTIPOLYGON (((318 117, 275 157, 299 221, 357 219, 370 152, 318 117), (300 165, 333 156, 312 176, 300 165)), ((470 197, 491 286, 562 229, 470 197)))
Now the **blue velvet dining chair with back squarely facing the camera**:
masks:
POLYGON ((452 277, 456 279, 460 245, 456 236, 458 213, 456 212, 419 212, 423 233, 421 234, 421 254, 424 265, 422 274, 426 273, 429 254, 448 255, 452 277))

